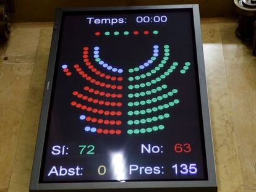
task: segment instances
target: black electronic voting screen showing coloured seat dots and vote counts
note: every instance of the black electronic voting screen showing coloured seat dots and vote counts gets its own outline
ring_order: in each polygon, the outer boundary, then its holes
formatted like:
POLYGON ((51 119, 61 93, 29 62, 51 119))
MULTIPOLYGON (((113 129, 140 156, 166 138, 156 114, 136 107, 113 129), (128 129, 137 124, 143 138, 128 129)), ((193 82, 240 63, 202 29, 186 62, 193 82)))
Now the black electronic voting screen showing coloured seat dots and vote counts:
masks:
POLYGON ((40 183, 207 180, 192 9, 62 14, 40 183))

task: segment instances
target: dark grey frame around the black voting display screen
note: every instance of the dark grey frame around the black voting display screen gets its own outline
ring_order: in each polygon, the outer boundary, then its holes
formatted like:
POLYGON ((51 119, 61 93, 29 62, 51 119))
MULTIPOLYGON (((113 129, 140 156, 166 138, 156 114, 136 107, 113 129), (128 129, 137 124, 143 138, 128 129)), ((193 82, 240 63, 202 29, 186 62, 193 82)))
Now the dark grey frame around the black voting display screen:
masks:
POLYGON ((90 7, 90 8, 61 8, 56 10, 53 27, 53 38, 49 52, 48 69, 46 73, 45 90, 41 107, 40 123, 36 140, 35 156, 30 180, 30 191, 159 191, 159 192, 216 192, 218 191, 215 171, 215 157, 213 154, 213 140, 211 136, 210 112, 208 106, 205 64, 203 59, 202 34, 200 27, 199 7, 197 4, 168 5, 168 6, 134 6, 134 7, 90 7), (147 10, 147 9, 192 9, 194 17, 195 48, 197 51, 198 80, 202 106, 203 136, 205 140, 205 155, 207 162, 208 180, 195 181, 148 181, 148 182, 72 182, 72 183, 40 183, 40 170, 45 144, 48 113, 53 90, 54 70, 58 54, 59 34, 62 14, 64 12, 84 12, 103 10, 147 10))

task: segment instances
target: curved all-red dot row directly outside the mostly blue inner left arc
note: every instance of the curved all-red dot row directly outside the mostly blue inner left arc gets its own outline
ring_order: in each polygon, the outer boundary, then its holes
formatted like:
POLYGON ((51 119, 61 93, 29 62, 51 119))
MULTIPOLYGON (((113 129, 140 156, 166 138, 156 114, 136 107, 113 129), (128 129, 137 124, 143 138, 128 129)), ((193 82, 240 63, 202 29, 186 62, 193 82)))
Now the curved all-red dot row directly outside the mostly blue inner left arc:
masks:
MULTIPOLYGON (((85 54, 85 52, 88 53, 88 47, 84 47, 83 48, 83 54, 85 54)), ((88 59, 88 55, 84 55, 83 57, 86 57, 85 59, 83 59, 83 61, 85 62, 85 65, 87 65, 88 69, 90 69, 93 73, 95 73, 96 75, 99 75, 102 78, 106 78, 107 80, 113 80, 113 81, 122 81, 123 78, 122 77, 114 77, 114 76, 110 76, 110 75, 106 75, 105 73, 100 72, 100 70, 96 69, 92 63, 89 61, 88 59)))

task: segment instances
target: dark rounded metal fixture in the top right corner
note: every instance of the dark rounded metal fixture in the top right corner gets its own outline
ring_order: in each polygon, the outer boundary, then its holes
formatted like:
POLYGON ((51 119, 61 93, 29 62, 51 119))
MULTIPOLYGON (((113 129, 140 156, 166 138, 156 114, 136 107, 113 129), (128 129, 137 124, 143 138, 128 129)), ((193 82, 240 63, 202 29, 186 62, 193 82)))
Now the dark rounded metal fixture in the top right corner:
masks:
POLYGON ((256 56, 256 0, 234 0, 239 14, 236 36, 243 41, 253 43, 253 54, 256 56))

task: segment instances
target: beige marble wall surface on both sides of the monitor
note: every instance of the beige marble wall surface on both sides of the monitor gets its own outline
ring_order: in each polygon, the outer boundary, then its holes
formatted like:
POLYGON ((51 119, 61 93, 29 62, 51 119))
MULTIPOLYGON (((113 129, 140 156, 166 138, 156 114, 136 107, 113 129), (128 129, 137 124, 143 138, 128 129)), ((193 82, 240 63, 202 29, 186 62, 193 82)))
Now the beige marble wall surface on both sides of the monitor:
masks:
MULTIPOLYGON (((28 191, 52 25, 15 23, 0 47, 0 192, 28 191)), ((236 26, 202 20, 216 171, 220 192, 255 192, 256 57, 236 26)))

